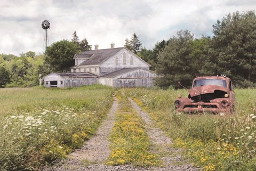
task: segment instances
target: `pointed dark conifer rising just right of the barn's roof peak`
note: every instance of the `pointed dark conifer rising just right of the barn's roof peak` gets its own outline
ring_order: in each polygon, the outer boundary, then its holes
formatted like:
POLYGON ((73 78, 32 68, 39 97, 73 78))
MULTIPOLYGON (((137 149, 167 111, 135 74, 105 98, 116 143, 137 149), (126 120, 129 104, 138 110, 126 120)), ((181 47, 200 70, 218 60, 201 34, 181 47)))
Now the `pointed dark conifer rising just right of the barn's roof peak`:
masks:
POLYGON ((141 51, 142 44, 139 40, 139 37, 135 34, 135 32, 132 35, 130 40, 127 38, 125 39, 124 47, 128 48, 130 51, 132 51, 135 54, 141 51))

